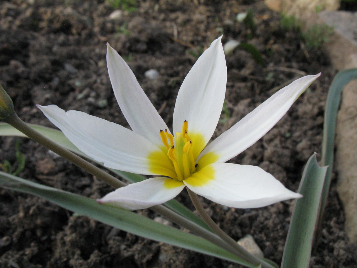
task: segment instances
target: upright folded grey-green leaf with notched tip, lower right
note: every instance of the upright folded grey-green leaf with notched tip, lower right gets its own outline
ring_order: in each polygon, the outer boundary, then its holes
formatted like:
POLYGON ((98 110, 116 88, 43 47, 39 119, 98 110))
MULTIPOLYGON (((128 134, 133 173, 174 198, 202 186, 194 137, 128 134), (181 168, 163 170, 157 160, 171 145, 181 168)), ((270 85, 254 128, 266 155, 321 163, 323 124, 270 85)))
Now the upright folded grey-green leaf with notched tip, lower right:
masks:
POLYGON ((285 243, 281 268, 307 268, 327 167, 317 164, 316 154, 306 163, 285 243))

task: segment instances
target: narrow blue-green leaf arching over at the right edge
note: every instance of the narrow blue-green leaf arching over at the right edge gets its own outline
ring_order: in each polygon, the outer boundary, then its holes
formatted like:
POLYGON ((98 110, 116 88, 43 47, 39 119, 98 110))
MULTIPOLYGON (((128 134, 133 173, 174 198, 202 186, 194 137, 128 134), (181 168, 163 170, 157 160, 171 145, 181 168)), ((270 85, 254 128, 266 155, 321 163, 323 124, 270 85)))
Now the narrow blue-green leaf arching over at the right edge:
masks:
POLYGON ((335 147, 335 132, 337 111, 340 105, 342 89, 357 79, 357 69, 348 69, 336 74, 328 91, 323 122, 321 165, 329 166, 327 169, 325 184, 323 185, 318 225, 321 225, 323 209, 325 208, 328 192, 331 184, 331 171, 333 165, 333 150, 335 147))

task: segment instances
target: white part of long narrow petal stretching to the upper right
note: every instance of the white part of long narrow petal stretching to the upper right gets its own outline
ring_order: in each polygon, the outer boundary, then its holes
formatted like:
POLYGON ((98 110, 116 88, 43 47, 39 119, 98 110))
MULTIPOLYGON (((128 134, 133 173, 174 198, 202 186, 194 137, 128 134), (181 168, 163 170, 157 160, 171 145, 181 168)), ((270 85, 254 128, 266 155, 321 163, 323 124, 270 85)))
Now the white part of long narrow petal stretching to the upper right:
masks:
POLYGON ((320 74, 304 76, 279 90, 208 144, 200 154, 200 157, 209 152, 214 152, 219 155, 217 162, 226 162, 243 152, 263 137, 319 76, 320 74))

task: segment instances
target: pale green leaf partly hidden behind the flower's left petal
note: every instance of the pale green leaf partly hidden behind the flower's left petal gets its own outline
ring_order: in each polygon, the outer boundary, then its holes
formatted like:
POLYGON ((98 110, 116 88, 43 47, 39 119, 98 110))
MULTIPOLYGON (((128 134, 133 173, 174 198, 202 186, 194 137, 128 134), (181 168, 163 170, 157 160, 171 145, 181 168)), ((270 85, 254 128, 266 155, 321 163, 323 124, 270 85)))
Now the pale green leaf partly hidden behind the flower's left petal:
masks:
MULTIPOLYGON (((40 126, 40 125, 35 125, 35 124, 29 124, 31 128, 34 128, 36 131, 41 133, 42 135, 46 136, 47 138, 53 140, 54 142, 58 143, 62 147, 78 154, 81 155, 82 157, 85 157, 87 159, 91 159, 92 161, 96 162, 94 159, 88 157, 86 154, 81 152, 77 147, 74 146, 73 143, 70 142, 69 139, 66 138, 66 136, 59 130, 53 129, 53 128, 47 128, 45 126, 40 126)), ((0 123, 0 136, 18 136, 18 137, 26 137, 27 136, 23 133, 21 133, 19 130, 13 128, 12 126, 6 124, 6 123, 0 123)), ((102 163, 96 162, 99 165, 103 166, 102 163)), ((135 182, 140 182, 144 179, 142 175, 139 174, 133 174, 121 170, 116 170, 116 169, 110 169, 112 172, 115 174, 121 176, 122 178, 128 180, 131 183, 135 182)), ((172 199, 164 204, 167 208, 170 208, 174 212, 182 215, 183 217, 191 220, 192 222, 200 225, 201 227, 209 230, 212 232, 212 230, 207 226, 207 224, 199 217, 197 217, 195 214, 192 213, 191 210, 186 208, 184 205, 182 205, 180 202, 178 202, 175 199, 172 199)))

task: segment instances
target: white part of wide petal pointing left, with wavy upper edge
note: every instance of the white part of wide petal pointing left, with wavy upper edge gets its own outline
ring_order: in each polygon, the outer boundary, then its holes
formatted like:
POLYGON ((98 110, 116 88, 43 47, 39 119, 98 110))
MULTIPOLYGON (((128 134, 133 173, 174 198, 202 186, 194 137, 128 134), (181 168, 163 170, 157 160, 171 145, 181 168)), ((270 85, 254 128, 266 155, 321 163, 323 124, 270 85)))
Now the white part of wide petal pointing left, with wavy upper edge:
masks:
POLYGON ((150 172, 147 156, 160 149, 147 139, 121 125, 80 111, 65 112, 56 105, 37 106, 78 149, 106 167, 157 175, 150 172))

